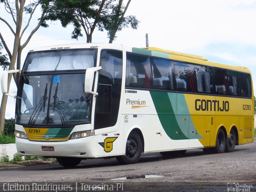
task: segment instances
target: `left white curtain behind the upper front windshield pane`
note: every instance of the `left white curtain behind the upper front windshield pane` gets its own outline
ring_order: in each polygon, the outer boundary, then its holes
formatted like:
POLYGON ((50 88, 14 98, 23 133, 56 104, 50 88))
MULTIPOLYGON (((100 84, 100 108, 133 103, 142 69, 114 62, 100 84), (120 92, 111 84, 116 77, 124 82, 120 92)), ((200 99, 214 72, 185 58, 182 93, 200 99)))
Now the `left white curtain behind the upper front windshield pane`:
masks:
POLYGON ((28 65, 27 71, 53 71, 58 65, 59 60, 60 56, 35 57, 28 65))

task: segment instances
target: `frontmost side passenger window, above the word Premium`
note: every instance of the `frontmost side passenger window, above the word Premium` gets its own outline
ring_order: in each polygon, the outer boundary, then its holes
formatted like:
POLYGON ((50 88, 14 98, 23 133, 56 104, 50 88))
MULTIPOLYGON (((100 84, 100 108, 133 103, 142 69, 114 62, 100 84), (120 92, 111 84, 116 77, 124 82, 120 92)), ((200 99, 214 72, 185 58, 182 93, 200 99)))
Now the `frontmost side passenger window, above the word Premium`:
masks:
POLYGON ((126 55, 126 86, 151 88, 150 58, 133 54, 126 55))

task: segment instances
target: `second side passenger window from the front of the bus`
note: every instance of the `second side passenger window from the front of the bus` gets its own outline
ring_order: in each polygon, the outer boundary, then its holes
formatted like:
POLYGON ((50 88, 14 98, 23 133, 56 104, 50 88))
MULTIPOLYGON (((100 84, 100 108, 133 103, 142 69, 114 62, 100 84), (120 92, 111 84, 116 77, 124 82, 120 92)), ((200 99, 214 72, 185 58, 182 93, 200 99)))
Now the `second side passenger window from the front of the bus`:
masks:
POLYGON ((174 90, 174 64, 172 61, 152 59, 153 88, 174 90))

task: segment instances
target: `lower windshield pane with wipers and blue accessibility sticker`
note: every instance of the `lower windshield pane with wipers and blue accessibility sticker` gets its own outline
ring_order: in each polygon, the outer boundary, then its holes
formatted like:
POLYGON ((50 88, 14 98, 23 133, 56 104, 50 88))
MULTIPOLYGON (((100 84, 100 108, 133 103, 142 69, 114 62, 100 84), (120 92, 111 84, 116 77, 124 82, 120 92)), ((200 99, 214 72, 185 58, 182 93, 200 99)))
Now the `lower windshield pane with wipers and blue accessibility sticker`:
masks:
POLYGON ((28 126, 90 122, 91 95, 84 93, 84 76, 84 73, 22 76, 16 122, 28 126))

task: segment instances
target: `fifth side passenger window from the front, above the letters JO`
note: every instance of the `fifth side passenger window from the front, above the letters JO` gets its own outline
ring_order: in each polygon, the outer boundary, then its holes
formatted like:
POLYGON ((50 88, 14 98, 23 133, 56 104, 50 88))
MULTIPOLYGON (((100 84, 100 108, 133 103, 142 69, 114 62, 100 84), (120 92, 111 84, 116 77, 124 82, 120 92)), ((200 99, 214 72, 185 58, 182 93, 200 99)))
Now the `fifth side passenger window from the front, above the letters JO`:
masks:
POLYGON ((214 69, 216 94, 228 94, 228 77, 226 70, 214 69))

